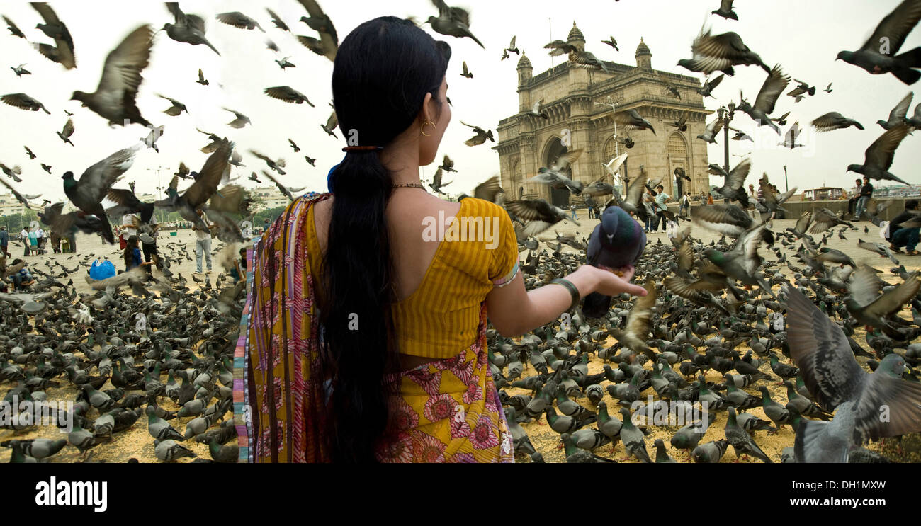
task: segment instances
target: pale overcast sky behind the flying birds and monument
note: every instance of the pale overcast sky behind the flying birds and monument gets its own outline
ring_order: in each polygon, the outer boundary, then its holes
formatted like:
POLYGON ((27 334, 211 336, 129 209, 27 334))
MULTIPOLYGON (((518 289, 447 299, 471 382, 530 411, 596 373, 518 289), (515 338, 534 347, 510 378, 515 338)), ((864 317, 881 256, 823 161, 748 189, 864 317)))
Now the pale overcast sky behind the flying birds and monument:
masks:
MULTIPOLYGON (((498 154, 490 149, 493 143, 468 147, 463 141, 471 136, 470 129, 460 120, 495 130, 499 120, 517 112, 518 57, 500 62, 502 50, 512 35, 518 36, 519 49, 526 51, 534 66, 534 74, 549 68, 549 57, 543 45, 550 40, 565 40, 573 20, 577 22, 587 40, 587 50, 603 60, 635 65, 634 53, 640 37, 652 51, 654 69, 680 74, 693 74, 675 65, 679 59, 690 58, 691 42, 706 23, 715 33, 738 32, 745 43, 761 54, 765 63, 782 64, 784 71, 813 86, 814 97, 794 103, 792 97, 781 96, 774 116, 791 111, 788 125, 799 120, 804 127, 799 143, 807 144, 793 152, 785 151, 776 143, 782 137, 764 127, 756 127, 747 115, 737 113, 733 126, 749 131, 758 141, 731 142, 732 153, 752 152, 752 176, 755 182, 765 171, 772 182, 781 189, 783 166, 787 166, 790 187, 808 189, 828 186, 850 187, 856 177, 846 173, 848 164, 862 164, 864 150, 883 131, 875 122, 886 119, 890 109, 912 86, 906 86, 892 74, 871 75, 857 66, 834 61, 838 51, 857 50, 869 34, 895 6, 898 0, 773 0, 771 2, 738 0, 735 10, 740 20, 726 20, 709 12, 719 5, 718 0, 572 0, 566 3, 547 0, 483 1, 469 0, 452 5, 470 9, 472 32, 484 42, 483 50, 472 40, 455 39, 435 34, 447 40, 453 49, 449 64, 449 97, 453 102, 453 120, 441 143, 439 156, 449 154, 456 162, 459 174, 446 188, 451 193, 469 192, 478 182, 498 173, 498 154), (621 51, 600 43, 613 36, 621 51), (466 61, 474 74, 472 79, 460 75, 461 62, 466 61), (823 93, 822 88, 833 82, 834 92, 823 93), (846 117, 859 120, 866 128, 850 128, 825 134, 811 131, 807 123, 828 111, 839 111, 846 117)), ((245 180, 252 170, 264 169, 264 164, 251 154, 255 149, 275 159, 287 161, 288 175, 282 181, 291 187, 307 186, 325 191, 329 168, 342 159, 344 146, 339 140, 321 131, 320 124, 329 117, 332 99, 330 75, 332 63, 301 46, 291 33, 274 29, 265 7, 272 8, 284 18, 294 34, 317 36, 298 18, 306 15, 294 0, 254 2, 227 0, 221 2, 181 2, 186 13, 201 15, 207 24, 208 39, 221 51, 218 57, 204 46, 191 46, 169 40, 159 32, 154 43, 150 65, 144 72, 140 87, 138 107, 146 120, 166 125, 159 140, 160 153, 145 150, 138 154, 134 167, 126 174, 119 188, 127 188, 127 181, 137 183, 137 193, 156 192, 157 167, 160 184, 169 184, 171 174, 184 161, 192 170, 204 164, 207 157, 198 151, 208 142, 207 137, 195 131, 213 131, 238 144, 244 156, 242 168, 234 169, 238 182, 254 187, 256 183, 245 180), (217 22, 217 13, 239 10, 254 17, 268 31, 263 35, 258 29, 236 29, 217 22), (266 49, 266 37, 281 48, 276 53, 266 49), (290 57, 296 68, 282 70, 274 59, 290 57), (204 70, 210 86, 200 86, 198 68, 204 70), (292 86, 310 98, 316 108, 305 105, 288 105, 266 97, 262 90, 269 86, 292 86), (221 87, 223 86, 223 87, 221 87), (190 114, 169 117, 162 113, 169 102, 158 98, 157 93, 181 100, 190 114), (227 126, 233 114, 221 107, 237 109, 248 115, 253 125, 243 130, 227 126), (302 152, 295 154, 286 139, 293 139, 302 152), (304 154, 317 158, 312 167, 304 154), (245 181, 245 182, 244 182, 245 181)), ((414 16, 425 20, 436 14, 428 0, 349 0, 348 2, 321 1, 321 5, 339 33, 340 40, 361 22, 382 15, 414 16)), ((16 184, 25 193, 43 193, 50 200, 63 199, 60 176, 71 170, 77 176, 100 159, 136 143, 146 135, 140 125, 109 128, 106 120, 80 107, 69 98, 74 90, 94 91, 106 54, 131 30, 149 23, 154 29, 172 22, 166 6, 161 2, 51 2, 58 16, 67 24, 75 41, 75 70, 52 63, 41 56, 26 40, 12 37, 2 29, 0 57, 4 58, 0 71, 0 94, 23 92, 40 100, 51 112, 27 112, 0 104, 0 163, 20 165, 24 182, 16 184), (10 66, 26 63, 31 75, 17 78, 10 66), (76 133, 71 138, 74 147, 58 139, 67 118, 64 109, 73 113, 76 133), (39 156, 35 161, 23 149, 28 145, 39 156), (41 170, 40 162, 52 166, 52 175, 41 170)), ((4 2, 0 12, 10 17, 29 40, 52 43, 39 29, 41 17, 25 2, 4 2)), ((432 32, 428 25, 426 31, 432 32)), ((434 33, 433 33, 434 34, 434 33)), ((902 51, 921 45, 921 30, 909 35, 902 51)), ((554 57, 554 63, 561 63, 554 57)), ((764 82, 764 71, 756 66, 736 68, 734 78, 726 77, 717 87, 717 100, 708 98, 706 106, 717 109, 729 100, 738 102, 742 90, 753 102, 764 82)), ((703 78, 702 75, 697 74, 703 78)), ((787 87, 792 89, 795 83, 787 87)), ((916 86, 921 86, 917 84, 916 86)), ((921 96, 918 97, 921 99, 921 96)), ((921 100, 915 100, 912 110, 921 100)), ((637 140, 641 140, 642 133, 637 140)), ((915 134, 917 135, 917 134, 915 134)), ((598 145, 601 147, 601 144, 598 145)), ((722 163, 722 137, 709 148, 710 162, 722 163)), ((731 164, 739 162, 733 157, 731 164)), ((921 183, 917 166, 921 164, 921 137, 909 136, 895 154, 892 173, 911 183, 921 183)), ((424 176, 431 177, 436 165, 423 168, 424 176)), ((0 176, 2 177, 2 176, 0 176)), ((712 179, 717 183, 717 177, 712 179)), ((181 188, 186 185, 182 184, 181 188)))

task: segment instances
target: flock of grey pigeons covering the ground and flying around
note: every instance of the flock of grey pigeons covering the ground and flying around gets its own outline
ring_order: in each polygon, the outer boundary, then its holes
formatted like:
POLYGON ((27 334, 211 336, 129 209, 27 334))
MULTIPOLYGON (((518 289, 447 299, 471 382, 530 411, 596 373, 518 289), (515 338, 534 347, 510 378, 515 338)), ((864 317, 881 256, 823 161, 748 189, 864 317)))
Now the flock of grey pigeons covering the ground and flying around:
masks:
MULTIPOLYGON (((297 40, 310 51, 333 60, 338 37, 332 20, 315 1, 301 0, 300 4, 308 13, 300 21, 316 31, 319 38, 299 36, 297 40)), ((433 4, 438 15, 426 21, 432 29, 448 36, 470 38, 483 46, 471 32, 466 10, 448 6, 442 0, 433 0, 433 4)), ((47 4, 32 3, 32 6, 44 21, 37 29, 53 40, 53 44, 35 43, 35 49, 65 68, 76 67, 75 42, 64 22, 47 4)), ((206 38, 204 19, 184 13, 175 2, 167 3, 167 8, 173 23, 166 23, 163 30, 169 39, 188 45, 204 45, 220 54, 206 38)), ((268 13, 275 29, 291 30, 271 10, 268 13)), ((723 0, 714 13, 738 19, 731 0, 723 0)), ((12 20, 4 19, 14 38, 27 38, 12 20)), ((896 53, 919 19, 921 0, 904 0, 883 18, 873 37, 860 50, 842 51, 838 58, 871 74, 892 73, 904 83, 913 84, 921 76, 921 72, 916 71, 921 67, 921 48, 896 53), (880 36, 890 42, 885 52, 874 43, 880 36)), ((221 14, 217 20, 239 29, 266 32, 256 19, 239 12, 221 14)), ((208 218, 216 223, 215 234, 219 239, 227 243, 241 242, 243 237, 237 222, 239 217, 249 215, 251 199, 242 187, 232 184, 230 170, 231 166, 243 166, 242 156, 234 143, 218 134, 202 131, 210 140, 202 151, 210 156, 198 172, 182 164, 170 183, 166 199, 143 202, 135 197, 133 189, 113 188, 130 169, 134 154, 144 147, 157 148, 157 137, 164 131, 163 127, 151 125, 134 102, 143 81, 142 72, 149 59, 153 36, 154 31, 148 25, 131 31, 107 57, 96 90, 91 93, 76 91, 72 95, 72 100, 81 102, 112 125, 142 124, 151 128, 150 133, 141 143, 89 166, 79 178, 72 172, 65 172, 62 177, 65 194, 78 210, 64 213, 64 203, 56 203, 45 207, 42 221, 62 235, 76 228, 99 233, 111 243, 114 238, 109 217, 137 214, 137 226, 142 230, 151 229, 156 226, 147 222, 153 211, 161 208, 179 212, 189 222, 207 228, 196 212, 204 209, 208 218), (178 189, 180 178, 193 179, 192 186, 181 193, 178 189), (116 205, 105 209, 102 203, 107 199, 116 205)), ((616 49, 613 38, 605 43, 616 49)), ((515 38, 509 44, 500 60, 507 58, 509 53, 519 52, 515 38)), ((277 51, 271 40, 267 45, 277 51)), ((574 66, 606 69, 603 62, 577 46, 554 41, 546 49, 554 55, 566 54, 574 66)), ((780 133, 778 124, 786 125, 787 116, 772 118, 771 113, 777 98, 787 88, 789 77, 779 65, 769 67, 732 32, 711 35, 709 30, 703 30, 694 40, 692 51, 693 58, 681 61, 680 65, 706 75, 721 73, 701 87, 705 96, 711 96, 722 74, 734 73, 734 66, 751 64, 763 68, 767 78, 754 103, 741 98, 740 103, 731 108, 780 133)), ((276 61, 279 67, 296 67, 287 61, 288 58, 276 61)), ((13 68, 14 72, 29 74, 24 65, 13 68)), ((466 64, 462 74, 472 78, 466 64)), ((203 86, 208 84, 202 71, 196 82, 203 86)), ((824 91, 830 93, 832 86, 824 91)), ((680 97, 676 92, 673 91, 680 97)), ((798 97, 812 96, 815 92, 814 86, 799 82, 788 95, 799 100, 798 97)), ((290 86, 269 87, 264 93, 286 103, 313 106, 307 96, 290 86)), ((160 97, 169 102, 165 110, 169 116, 187 111, 181 101, 160 97)), ((40 101, 24 93, 4 95, 0 100, 19 109, 41 109, 50 113, 40 101)), ((905 135, 921 128, 918 108, 914 117, 908 117, 910 103, 911 96, 905 97, 889 120, 880 121, 885 131, 869 146, 864 164, 851 165, 848 170, 874 179, 901 181, 889 172, 894 151, 905 135)), ((231 127, 239 129, 251 125, 242 113, 233 109, 227 111, 235 117, 229 123, 231 127)), ((542 101, 530 112, 546 119, 542 101)), ((614 118, 628 130, 655 133, 652 125, 635 110, 615 112, 614 118)), ((837 113, 823 115, 812 123, 819 131, 849 126, 863 129, 856 121, 837 113)), ((464 124, 474 133, 467 145, 483 144, 486 140, 495 142, 491 130, 464 124)), ((336 125, 333 112, 321 128, 334 136, 336 125)), ((676 128, 682 126, 686 126, 686 122, 675 122, 676 128)), ((708 126, 701 139, 714 141, 718 126, 708 126)), ((799 129, 799 125, 794 124, 785 140, 790 148, 797 145, 794 129, 799 129)), ((58 133, 64 144, 72 144, 69 138, 74 130, 73 120, 68 120, 58 133)), ((625 145, 627 141, 629 137, 624 140, 625 145)), ((300 151, 297 143, 291 140, 289 143, 295 152, 300 151)), ((30 158, 35 158, 28 147, 26 151, 30 158)), ((286 174, 284 161, 252 150, 249 153, 261 159, 278 176, 286 174)), ((632 181, 624 181, 624 195, 603 179, 590 185, 574 181, 567 177, 567 168, 583 153, 582 150, 565 153, 554 166, 541 168, 531 180, 568 189, 587 200, 610 195, 602 217, 610 215, 609 211, 622 210, 643 220, 647 213, 642 202, 644 192, 654 191, 657 182, 650 180, 642 167, 632 181)), ((307 157, 307 160, 312 165, 315 159, 307 157)), ((440 192, 449 184, 441 179, 446 172, 456 172, 453 166, 446 155, 430 184, 432 189, 440 192)), ((0 167, 6 177, 19 181, 20 168, 0 167)), ((619 168, 614 162, 606 167, 610 174, 616 174, 619 168)), ((51 173, 51 166, 44 169, 51 173)), ((624 451, 629 456, 651 462, 644 438, 647 429, 635 426, 634 418, 640 413, 651 416, 661 409, 661 404, 670 406, 670 410, 677 406, 693 415, 694 407, 706 403, 711 419, 679 429, 670 439, 673 448, 689 451, 690 458, 697 462, 718 462, 729 444, 738 455, 771 462, 753 434, 762 430, 774 432, 785 424, 796 429, 797 436, 790 451, 785 451, 784 460, 882 462, 885 459, 879 453, 863 449, 867 440, 919 430, 921 383, 909 365, 917 365, 921 360, 921 345, 909 342, 921 331, 921 316, 915 314, 912 321, 898 316, 906 304, 921 310, 917 297, 921 281, 917 273, 908 273, 904 267, 892 269, 902 280, 892 286, 880 280, 876 270, 857 265, 851 257, 826 246, 830 234, 824 234, 822 239, 813 235, 844 226, 837 231, 838 236, 844 237, 846 230, 857 227, 824 209, 804 212, 794 227, 772 232, 766 221, 756 222, 744 209, 755 206, 764 212, 783 211, 784 201, 793 192, 776 191, 765 175, 760 181, 764 202, 750 203, 743 185, 751 170, 750 161, 741 162, 729 173, 715 165, 711 170, 725 177, 723 187, 717 192, 726 202, 697 207, 694 222, 723 234, 724 238, 705 245, 685 226, 671 240, 672 246, 661 243, 641 246, 632 258, 636 278, 645 283, 647 296, 633 302, 628 298, 612 298, 612 307, 597 318, 589 319, 577 313, 571 326, 543 326, 519 341, 489 331, 493 376, 500 388, 517 452, 529 455, 533 461, 542 461, 542 452, 534 448, 520 423, 545 417, 547 424, 560 434, 569 462, 610 462, 612 459, 603 458, 596 451, 618 440, 624 443, 624 451), (734 241, 728 243, 726 237, 734 241), (776 246, 778 242, 783 248, 776 246), (762 245, 772 248, 776 255, 774 261, 759 256, 758 249, 762 245), (799 260, 799 264, 787 257, 799 260), (792 273, 795 279, 792 284, 784 268, 792 273), (781 287, 775 291, 778 285, 781 287), (786 326, 783 322, 785 312, 790 314, 786 326), (856 341, 856 330, 861 327, 867 329, 866 340, 872 351, 856 341), (608 337, 615 343, 605 347, 611 341, 608 337), (749 348, 745 352, 738 349, 743 344, 749 348), (589 355, 605 361, 603 372, 589 374, 589 355), (781 355, 793 360, 798 367, 782 361, 781 355), (866 363, 875 372, 866 372, 858 364, 856 355, 869 358, 866 363), (616 364, 616 368, 607 362, 616 364), (529 370, 525 364, 530 364, 533 375, 524 375, 529 370), (722 373, 723 381, 708 381, 705 373, 711 371, 722 373), (768 393, 764 382, 773 381, 787 383, 786 405, 775 402, 768 393), (530 394, 507 394, 510 388, 527 389, 530 394), (644 399, 649 388, 657 396, 656 403, 631 414, 627 407, 644 399), (761 396, 748 392, 756 388, 761 396), (571 399, 583 396, 587 404, 571 399), (609 412, 612 404, 620 406, 616 412, 621 419, 612 417, 609 412), (890 411, 885 420, 879 417, 880 406, 890 411), (747 413, 752 407, 763 407, 769 421, 747 413), (703 435, 697 428, 709 426, 712 417, 720 411, 728 414, 725 440, 698 443, 703 435), (813 417, 818 419, 810 419, 813 417), (589 428, 590 424, 595 427, 589 428)), ((262 177, 272 180, 292 199, 294 193, 302 190, 288 189, 266 170, 262 171, 262 177)), ((255 173, 251 178, 259 180, 255 173)), ((3 177, 0 181, 27 206, 29 200, 41 197, 23 196, 3 177)), ((586 260, 581 253, 587 244, 592 245, 598 236, 615 234, 605 230, 606 223, 602 219, 592 239, 579 242, 575 237, 558 235, 555 249, 547 255, 546 249, 538 252, 540 242, 535 236, 568 219, 567 212, 544 200, 505 202, 497 177, 474 189, 473 197, 504 204, 516 222, 521 250, 529 253, 522 265, 529 287, 576 269, 586 260), (563 251, 563 243, 576 248, 577 254, 563 251)), ((874 222, 879 221, 876 216, 883 206, 876 201, 870 202, 868 214, 874 222)), ((670 219, 688 218, 670 213, 670 219)), ((858 246, 890 257, 898 265, 886 246, 863 241, 859 241, 858 246)), ((239 284, 215 289, 210 282, 194 291, 186 288, 184 280, 172 276, 169 271, 169 261, 180 249, 171 247, 170 250, 173 251, 170 255, 158 258, 159 272, 152 280, 143 270, 133 270, 92 282, 97 292, 81 296, 72 282, 58 281, 74 270, 61 266, 64 272, 55 275, 50 267, 52 272, 43 274, 44 279, 33 285, 28 297, 2 298, 6 301, 0 303, 3 311, 0 318, 3 320, 0 321, 0 382, 12 384, 5 398, 12 399, 13 395, 20 400, 46 398, 44 390, 55 386, 62 375, 81 392, 76 397, 73 414, 79 426, 68 438, 5 440, 0 445, 12 449, 12 462, 45 460, 68 444, 83 453, 100 444, 117 441, 118 433, 130 429, 142 414, 147 417, 148 430, 156 440, 155 451, 160 460, 192 456, 194 453, 181 442, 195 439, 209 444, 215 461, 236 461, 236 446, 226 445, 236 433, 230 418, 225 417, 231 401, 229 356, 239 330, 242 289, 239 284), (134 294, 119 293, 125 286, 134 294), (148 289, 159 293, 152 294, 148 289), (134 326, 133 318, 125 313, 144 314, 149 325, 134 326), (147 330, 148 327, 157 330, 147 330), (165 382, 163 374, 167 375, 165 382), (111 388, 104 389, 110 383, 111 388), (164 396, 181 408, 169 411, 158 406, 164 396), (184 433, 169 424, 169 419, 176 417, 192 417, 186 422, 184 433)), ((594 261, 589 262, 598 263, 604 258, 603 254, 595 256, 594 261)), ((5 261, 3 264, 6 266, 5 261)), ((14 271, 18 269, 0 269, 5 275, 14 271)), ((219 282, 218 287, 221 284, 219 282)), ((28 427, 14 430, 20 432, 28 427)), ((655 445, 657 462, 669 462, 665 443, 657 440, 655 445)))

